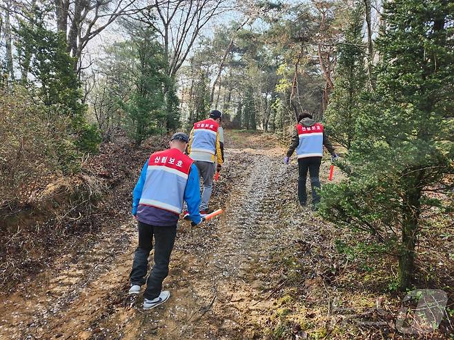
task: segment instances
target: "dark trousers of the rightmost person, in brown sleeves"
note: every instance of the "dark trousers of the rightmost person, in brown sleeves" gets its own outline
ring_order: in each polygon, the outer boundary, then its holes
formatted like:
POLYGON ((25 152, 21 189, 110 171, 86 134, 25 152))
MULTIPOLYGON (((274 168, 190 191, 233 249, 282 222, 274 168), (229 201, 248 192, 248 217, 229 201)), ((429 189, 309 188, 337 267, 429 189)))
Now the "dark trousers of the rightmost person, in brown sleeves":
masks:
POLYGON ((306 157, 298 159, 298 199, 299 203, 304 206, 307 201, 306 195, 306 178, 308 171, 310 174, 310 188, 312 190, 312 203, 317 204, 320 201, 320 196, 315 188, 320 188, 320 164, 322 157, 306 157))

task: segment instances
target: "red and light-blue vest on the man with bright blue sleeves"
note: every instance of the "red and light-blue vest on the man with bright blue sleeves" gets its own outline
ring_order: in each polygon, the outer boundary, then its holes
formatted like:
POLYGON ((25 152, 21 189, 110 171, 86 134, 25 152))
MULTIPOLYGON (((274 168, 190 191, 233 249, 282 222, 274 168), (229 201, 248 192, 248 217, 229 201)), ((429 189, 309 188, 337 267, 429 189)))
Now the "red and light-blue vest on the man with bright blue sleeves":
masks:
POLYGON ((139 204, 180 214, 192 163, 192 159, 177 149, 152 154, 139 204))

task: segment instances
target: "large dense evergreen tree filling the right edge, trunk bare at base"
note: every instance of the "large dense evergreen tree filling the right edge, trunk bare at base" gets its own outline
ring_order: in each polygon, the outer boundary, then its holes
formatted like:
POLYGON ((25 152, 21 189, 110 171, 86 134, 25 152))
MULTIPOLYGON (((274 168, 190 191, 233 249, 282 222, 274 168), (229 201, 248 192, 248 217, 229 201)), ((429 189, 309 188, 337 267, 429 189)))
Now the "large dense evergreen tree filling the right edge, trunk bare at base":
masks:
POLYGON ((395 254, 401 289, 413 279, 422 227, 431 228, 428 212, 454 208, 452 20, 448 0, 386 3, 377 89, 357 123, 349 179, 322 190, 324 217, 371 232, 395 254))

